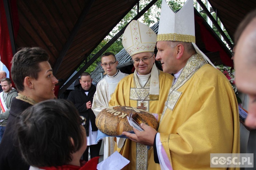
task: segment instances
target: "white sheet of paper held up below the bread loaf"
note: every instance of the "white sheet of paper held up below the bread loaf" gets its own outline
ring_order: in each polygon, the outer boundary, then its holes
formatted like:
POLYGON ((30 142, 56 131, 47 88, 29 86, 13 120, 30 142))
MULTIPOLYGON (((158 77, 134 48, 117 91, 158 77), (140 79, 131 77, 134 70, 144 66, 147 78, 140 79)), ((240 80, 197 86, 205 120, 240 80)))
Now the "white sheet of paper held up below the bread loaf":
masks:
POLYGON ((115 151, 108 158, 97 165, 98 170, 120 170, 129 164, 129 160, 123 157, 120 153, 115 151))

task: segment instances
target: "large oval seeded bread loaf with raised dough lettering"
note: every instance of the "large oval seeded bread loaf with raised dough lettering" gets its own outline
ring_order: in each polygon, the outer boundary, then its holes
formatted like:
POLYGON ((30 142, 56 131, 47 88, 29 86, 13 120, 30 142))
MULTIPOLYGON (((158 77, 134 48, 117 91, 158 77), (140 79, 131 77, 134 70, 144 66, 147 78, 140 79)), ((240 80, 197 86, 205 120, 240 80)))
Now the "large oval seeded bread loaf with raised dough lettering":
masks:
POLYGON ((158 122, 151 113, 129 106, 112 106, 103 109, 96 116, 96 126, 101 132, 109 136, 118 136, 122 135, 124 131, 133 131, 127 119, 131 113, 138 114, 139 119, 157 130, 158 122))

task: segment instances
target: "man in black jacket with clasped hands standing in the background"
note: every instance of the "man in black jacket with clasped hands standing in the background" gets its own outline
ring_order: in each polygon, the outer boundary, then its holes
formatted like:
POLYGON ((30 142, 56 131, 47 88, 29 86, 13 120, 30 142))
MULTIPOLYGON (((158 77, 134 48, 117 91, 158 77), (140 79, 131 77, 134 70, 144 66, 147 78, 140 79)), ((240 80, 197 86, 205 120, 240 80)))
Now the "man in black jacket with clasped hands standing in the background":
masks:
POLYGON ((75 108, 78 110, 80 116, 84 116, 86 118, 84 127, 86 130, 88 147, 83 154, 83 159, 88 161, 89 148, 90 158, 99 156, 102 140, 100 140, 98 143, 95 142, 98 128, 95 124, 95 114, 91 109, 96 87, 91 84, 93 79, 91 79, 91 75, 88 72, 82 73, 80 78, 80 80, 77 79, 75 82, 75 89, 70 92, 68 100, 74 103, 75 108))

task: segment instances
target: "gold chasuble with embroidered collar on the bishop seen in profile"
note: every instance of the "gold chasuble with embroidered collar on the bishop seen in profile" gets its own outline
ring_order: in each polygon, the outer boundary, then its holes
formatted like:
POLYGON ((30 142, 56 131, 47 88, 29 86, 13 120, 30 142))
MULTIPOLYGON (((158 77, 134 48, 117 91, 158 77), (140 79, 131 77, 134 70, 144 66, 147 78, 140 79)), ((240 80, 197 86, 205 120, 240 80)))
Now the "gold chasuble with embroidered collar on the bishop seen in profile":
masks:
MULTIPOLYGON (((210 153, 239 153, 238 105, 225 75, 191 56, 169 90, 158 133, 173 169, 214 169, 210 153)), ((149 166, 160 169, 153 156, 149 166)))

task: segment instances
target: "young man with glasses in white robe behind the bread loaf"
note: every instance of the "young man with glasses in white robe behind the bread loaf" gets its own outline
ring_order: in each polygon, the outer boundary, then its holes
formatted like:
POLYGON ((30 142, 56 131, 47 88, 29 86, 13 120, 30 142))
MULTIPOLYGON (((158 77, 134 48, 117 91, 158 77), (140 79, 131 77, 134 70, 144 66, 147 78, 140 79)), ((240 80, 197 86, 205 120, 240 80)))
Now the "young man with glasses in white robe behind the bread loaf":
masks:
MULTIPOLYGON (((107 52, 101 56, 101 66, 107 75, 97 84, 94 94, 91 109, 96 116, 102 109, 109 107, 110 98, 118 82, 128 75, 116 69, 117 64, 118 61, 116 61, 115 54, 107 52)), ((114 146, 114 137, 104 138, 104 159, 114 153, 114 146)))

